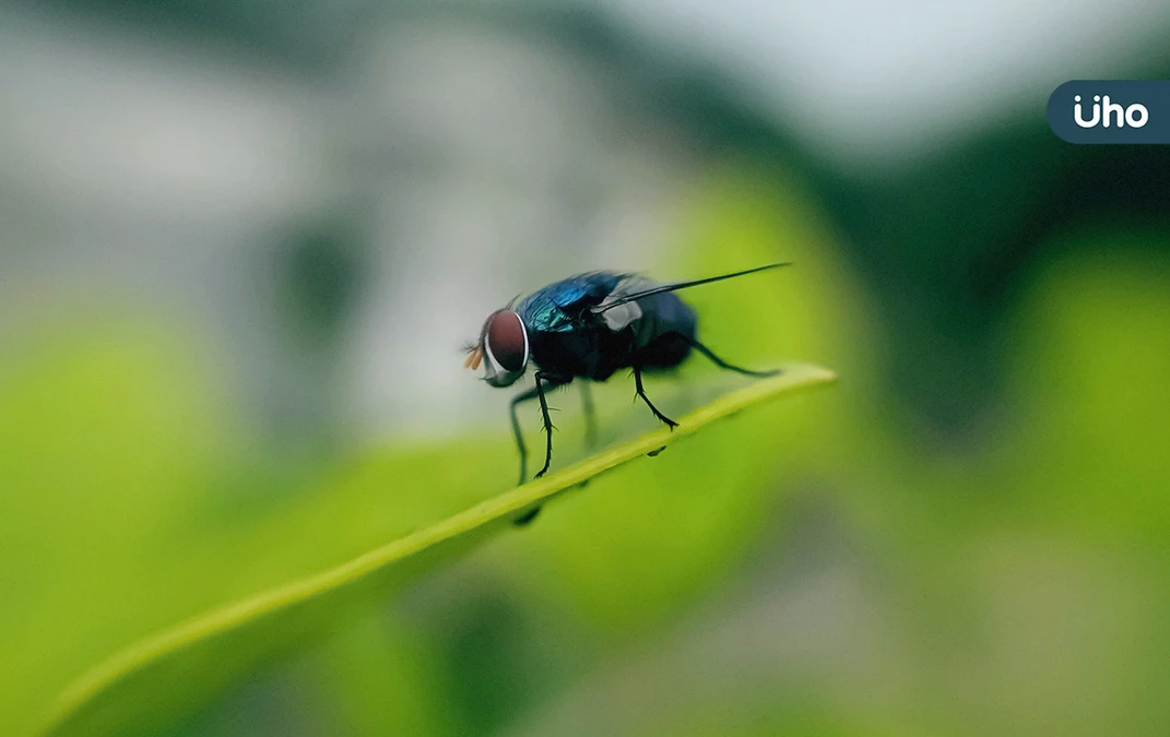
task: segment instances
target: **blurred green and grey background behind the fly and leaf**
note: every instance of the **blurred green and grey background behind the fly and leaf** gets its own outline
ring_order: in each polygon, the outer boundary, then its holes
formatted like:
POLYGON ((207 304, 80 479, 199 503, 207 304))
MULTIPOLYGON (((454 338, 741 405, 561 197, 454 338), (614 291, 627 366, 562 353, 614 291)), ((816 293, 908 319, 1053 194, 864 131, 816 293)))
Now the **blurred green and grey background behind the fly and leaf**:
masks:
MULTIPOLYGON (((5 4, 0 732, 508 489, 459 347, 514 295, 791 260, 688 298, 838 386, 125 733, 1165 733, 1170 150, 1044 111, 1168 40, 1148 0, 5 4)), ((603 439, 652 427, 612 384, 603 439)))

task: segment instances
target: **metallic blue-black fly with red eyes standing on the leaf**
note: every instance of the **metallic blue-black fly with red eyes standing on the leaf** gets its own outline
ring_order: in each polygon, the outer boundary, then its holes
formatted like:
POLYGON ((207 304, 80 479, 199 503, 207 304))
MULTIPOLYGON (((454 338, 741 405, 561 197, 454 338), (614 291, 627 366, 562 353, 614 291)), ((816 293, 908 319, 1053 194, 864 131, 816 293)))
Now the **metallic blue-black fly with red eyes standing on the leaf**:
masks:
MULTIPOLYGON (((789 266, 771 263, 745 271, 724 274, 690 282, 660 284, 639 274, 591 271, 570 276, 537 290, 523 299, 512 301, 488 316, 476 343, 467 347, 464 367, 477 371, 491 386, 511 386, 524 376, 529 364, 536 366, 536 385, 511 400, 511 425, 519 450, 519 482, 528 475, 528 448, 516 416, 518 405, 536 399, 544 423, 544 466, 539 478, 552 462, 552 420, 549 416, 549 391, 573 379, 581 380, 586 420, 592 433, 590 381, 605 381, 621 368, 634 377, 634 392, 649 411, 670 429, 677 422, 662 414, 642 387, 642 374, 673 368, 691 351, 697 351, 720 368, 751 377, 770 377, 779 371, 750 371, 727 363, 696 338, 698 318, 679 295, 680 289, 745 276, 766 269, 789 266)), ((517 519, 529 522, 539 508, 517 519)))

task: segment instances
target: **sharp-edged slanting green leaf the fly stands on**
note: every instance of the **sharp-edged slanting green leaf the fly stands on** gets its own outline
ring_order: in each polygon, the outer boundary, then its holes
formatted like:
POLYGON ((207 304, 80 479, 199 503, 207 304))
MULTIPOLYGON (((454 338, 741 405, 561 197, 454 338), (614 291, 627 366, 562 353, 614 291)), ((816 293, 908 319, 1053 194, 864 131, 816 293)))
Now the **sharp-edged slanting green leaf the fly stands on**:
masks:
POLYGON ((785 366, 777 377, 728 393, 682 416, 673 432, 661 427, 646 433, 338 566, 139 640, 62 691, 39 733, 124 735, 156 719, 187 712, 207 691, 226 688, 257 663, 319 632, 337 618, 338 609, 393 591, 432 565, 507 529, 525 510, 601 473, 656 453, 716 420, 834 380, 835 374, 825 368, 785 366), (192 691, 185 686, 194 677, 201 688, 192 691))

